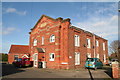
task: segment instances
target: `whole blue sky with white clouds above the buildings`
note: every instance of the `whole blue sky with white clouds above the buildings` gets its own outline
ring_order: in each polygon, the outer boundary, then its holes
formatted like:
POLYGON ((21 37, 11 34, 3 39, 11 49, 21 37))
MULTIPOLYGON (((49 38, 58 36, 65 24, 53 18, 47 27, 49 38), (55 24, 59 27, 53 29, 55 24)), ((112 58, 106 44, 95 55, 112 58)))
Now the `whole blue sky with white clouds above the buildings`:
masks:
POLYGON ((29 32, 40 17, 70 18, 73 26, 108 40, 118 39, 117 2, 2 2, 2 53, 11 44, 28 45, 29 32))

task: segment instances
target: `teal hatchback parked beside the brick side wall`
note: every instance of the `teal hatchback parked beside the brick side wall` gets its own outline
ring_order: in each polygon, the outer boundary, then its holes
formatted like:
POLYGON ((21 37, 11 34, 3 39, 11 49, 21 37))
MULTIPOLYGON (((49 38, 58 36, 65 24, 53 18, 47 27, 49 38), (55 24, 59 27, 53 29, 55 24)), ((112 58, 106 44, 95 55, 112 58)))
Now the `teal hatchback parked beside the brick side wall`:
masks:
POLYGON ((85 62, 85 68, 93 68, 93 69, 97 69, 97 68, 102 68, 103 67, 103 63, 100 61, 99 58, 87 58, 86 62, 85 62))

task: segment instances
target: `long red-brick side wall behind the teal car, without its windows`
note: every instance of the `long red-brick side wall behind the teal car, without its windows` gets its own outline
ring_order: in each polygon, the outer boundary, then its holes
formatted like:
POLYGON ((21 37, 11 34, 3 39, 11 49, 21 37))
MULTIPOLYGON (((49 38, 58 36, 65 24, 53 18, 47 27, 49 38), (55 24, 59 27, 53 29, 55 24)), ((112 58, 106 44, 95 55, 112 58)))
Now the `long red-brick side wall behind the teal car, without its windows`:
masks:
POLYGON ((85 61, 86 61, 86 55, 87 53, 91 53, 91 57, 94 58, 94 48, 95 48, 95 57, 96 57, 96 53, 99 54, 99 58, 100 60, 103 62, 103 64, 107 64, 108 61, 106 60, 106 62, 103 61, 103 56, 104 54, 106 55, 106 58, 108 56, 108 47, 107 47, 107 40, 104 40, 100 37, 95 36, 95 40, 99 41, 99 46, 96 47, 96 43, 94 43, 94 36, 90 33, 86 33, 83 30, 76 30, 76 29, 69 29, 69 40, 68 40, 68 45, 69 45, 69 56, 72 56, 72 58, 69 58, 69 67, 70 68, 80 68, 80 67, 84 67, 85 65, 85 61), (74 35, 79 35, 80 36, 80 46, 76 47, 75 43, 74 43, 74 35), (85 46, 86 43, 86 39, 89 38, 91 40, 91 46, 90 48, 87 48, 87 46, 85 46), (105 43, 105 51, 103 50, 103 45, 102 43, 105 43), (95 46, 94 46, 95 45, 95 46), (94 48, 93 48, 94 46, 94 48), (75 65, 75 52, 79 52, 80 53, 80 65, 75 65))

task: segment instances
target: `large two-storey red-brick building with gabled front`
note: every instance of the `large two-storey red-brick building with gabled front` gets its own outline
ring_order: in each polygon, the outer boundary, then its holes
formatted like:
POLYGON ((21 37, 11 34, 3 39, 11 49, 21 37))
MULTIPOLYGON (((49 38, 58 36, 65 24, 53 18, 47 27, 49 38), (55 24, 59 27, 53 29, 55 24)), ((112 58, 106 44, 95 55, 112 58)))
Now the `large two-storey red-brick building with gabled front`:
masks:
POLYGON ((31 29, 29 50, 34 67, 77 69, 88 57, 108 63, 108 41, 91 32, 72 26, 70 19, 42 15, 31 29))

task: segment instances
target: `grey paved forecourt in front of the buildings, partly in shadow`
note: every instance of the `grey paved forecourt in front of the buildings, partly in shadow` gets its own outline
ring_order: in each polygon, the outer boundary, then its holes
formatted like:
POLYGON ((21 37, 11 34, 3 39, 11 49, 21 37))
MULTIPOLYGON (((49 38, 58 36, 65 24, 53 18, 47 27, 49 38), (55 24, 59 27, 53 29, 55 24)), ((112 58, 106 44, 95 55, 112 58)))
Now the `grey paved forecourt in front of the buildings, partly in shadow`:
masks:
POLYGON ((104 69, 42 69, 42 68, 16 68, 10 64, 2 64, 2 78, 86 78, 88 80, 112 80, 110 67, 104 69))

